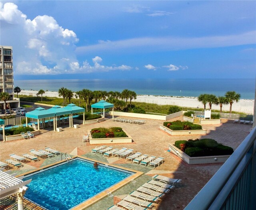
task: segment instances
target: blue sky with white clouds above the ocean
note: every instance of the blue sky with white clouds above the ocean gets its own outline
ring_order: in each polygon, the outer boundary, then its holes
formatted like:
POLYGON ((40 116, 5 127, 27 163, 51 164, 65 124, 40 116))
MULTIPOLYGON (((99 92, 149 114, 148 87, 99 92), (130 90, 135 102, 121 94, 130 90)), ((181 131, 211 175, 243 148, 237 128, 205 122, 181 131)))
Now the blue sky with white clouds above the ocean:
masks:
POLYGON ((0 2, 15 80, 255 78, 256 1, 0 2))

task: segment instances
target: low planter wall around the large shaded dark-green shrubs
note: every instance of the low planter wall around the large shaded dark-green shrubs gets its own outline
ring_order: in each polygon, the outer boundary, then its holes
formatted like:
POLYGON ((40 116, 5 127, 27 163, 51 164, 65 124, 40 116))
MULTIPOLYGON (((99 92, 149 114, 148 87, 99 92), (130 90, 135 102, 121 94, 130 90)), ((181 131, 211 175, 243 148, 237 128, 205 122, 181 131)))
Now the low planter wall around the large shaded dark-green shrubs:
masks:
POLYGON ((178 149, 173 144, 169 144, 169 150, 170 152, 176 154, 182 160, 184 160, 186 163, 192 165, 192 164, 208 164, 208 163, 224 163, 230 155, 217 155, 217 156, 202 156, 202 157, 190 157, 185 152, 182 152, 180 149, 178 149))

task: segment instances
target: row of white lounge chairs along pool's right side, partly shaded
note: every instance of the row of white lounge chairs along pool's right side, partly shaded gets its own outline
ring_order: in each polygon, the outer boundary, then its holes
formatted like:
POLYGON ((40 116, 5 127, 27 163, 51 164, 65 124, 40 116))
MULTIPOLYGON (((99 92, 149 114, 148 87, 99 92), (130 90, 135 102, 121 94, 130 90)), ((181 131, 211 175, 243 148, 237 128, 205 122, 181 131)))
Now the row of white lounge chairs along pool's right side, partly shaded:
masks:
POLYGON ((155 175, 152 180, 132 191, 116 205, 107 210, 148 210, 154 208, 154 204, 161 202, 166 193, 174 188, 174 184, 180 179, 172 179, 166 176, 155 175))

